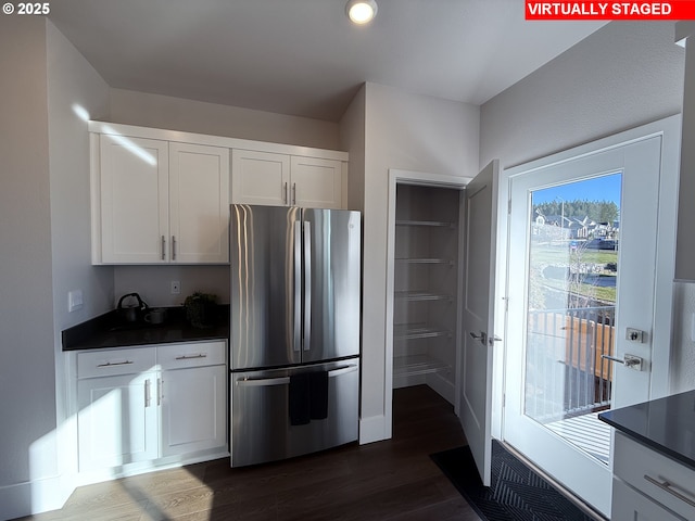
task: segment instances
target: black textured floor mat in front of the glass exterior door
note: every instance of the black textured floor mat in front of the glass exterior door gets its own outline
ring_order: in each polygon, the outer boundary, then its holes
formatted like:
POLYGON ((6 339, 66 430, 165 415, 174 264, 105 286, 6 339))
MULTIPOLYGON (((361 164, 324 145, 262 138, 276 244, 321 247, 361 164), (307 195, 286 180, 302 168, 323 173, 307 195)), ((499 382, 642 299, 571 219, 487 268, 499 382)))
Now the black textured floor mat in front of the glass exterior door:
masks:
POLYGON ((595 521, 496 441, 492 442, 490 487, 482 486, 468 447, 430 458, 488 521, 595 521))

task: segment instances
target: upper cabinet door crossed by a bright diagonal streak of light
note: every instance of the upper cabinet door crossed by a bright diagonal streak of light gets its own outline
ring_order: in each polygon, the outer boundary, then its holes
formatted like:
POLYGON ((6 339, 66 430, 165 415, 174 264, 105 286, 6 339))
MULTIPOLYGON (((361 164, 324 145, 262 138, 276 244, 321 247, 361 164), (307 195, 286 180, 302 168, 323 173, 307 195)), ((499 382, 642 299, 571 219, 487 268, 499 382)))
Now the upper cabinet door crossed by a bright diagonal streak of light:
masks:
POLYGON ((101 136, 103 263, 166 260, 168 143, 101 136))

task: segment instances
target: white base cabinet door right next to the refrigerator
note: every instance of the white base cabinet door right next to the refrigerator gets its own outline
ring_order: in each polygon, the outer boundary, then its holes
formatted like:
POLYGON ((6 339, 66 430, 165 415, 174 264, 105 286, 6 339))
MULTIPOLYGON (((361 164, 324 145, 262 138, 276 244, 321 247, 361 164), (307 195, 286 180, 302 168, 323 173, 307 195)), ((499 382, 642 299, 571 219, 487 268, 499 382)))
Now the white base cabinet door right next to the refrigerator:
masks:
POLYGON ((227 444, 226 366, 162 372, 162 456, 227 444))

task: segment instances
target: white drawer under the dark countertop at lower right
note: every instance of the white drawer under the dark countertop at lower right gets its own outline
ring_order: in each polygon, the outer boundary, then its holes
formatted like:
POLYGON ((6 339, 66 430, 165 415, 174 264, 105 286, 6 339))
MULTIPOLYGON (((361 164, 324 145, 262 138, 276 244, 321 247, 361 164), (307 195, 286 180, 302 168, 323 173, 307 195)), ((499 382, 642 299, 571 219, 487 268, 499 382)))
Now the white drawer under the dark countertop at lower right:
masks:
POLYGON ((616 432, 617 478, 685 519, 695 519, 695 470, 616 432))

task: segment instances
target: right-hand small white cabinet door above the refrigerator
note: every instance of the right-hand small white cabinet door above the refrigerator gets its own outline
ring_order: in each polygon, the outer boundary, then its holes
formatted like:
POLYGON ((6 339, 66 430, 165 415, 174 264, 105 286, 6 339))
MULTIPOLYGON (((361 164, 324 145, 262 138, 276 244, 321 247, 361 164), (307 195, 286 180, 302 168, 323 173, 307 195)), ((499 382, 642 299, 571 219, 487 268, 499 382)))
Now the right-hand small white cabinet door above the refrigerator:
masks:
POLYGON ((307 208, 342 207, 340 161, 293 155, 290 174, 290 204, 307 208))

